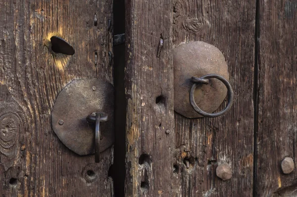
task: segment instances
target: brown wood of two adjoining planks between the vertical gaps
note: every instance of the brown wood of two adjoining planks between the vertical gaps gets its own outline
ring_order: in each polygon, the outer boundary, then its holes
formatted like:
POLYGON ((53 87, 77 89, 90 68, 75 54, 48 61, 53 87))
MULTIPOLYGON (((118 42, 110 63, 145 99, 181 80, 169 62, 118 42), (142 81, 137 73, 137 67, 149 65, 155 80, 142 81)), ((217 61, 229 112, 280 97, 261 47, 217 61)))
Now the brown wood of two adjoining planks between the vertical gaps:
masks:
POLYGON ((126 195, 251 196, 255 1, 175 0, 173 21, 170 3, 126 1, 126 195), (160 34, 165 41, 157 58, 160 34), (201 40, 224 53, 235 92, 227 115, 191 120, 175 114, 173 130, 171 39, 174 46, 201 40), (230 181, 215 176, 220 163, 231 165, 230 181))

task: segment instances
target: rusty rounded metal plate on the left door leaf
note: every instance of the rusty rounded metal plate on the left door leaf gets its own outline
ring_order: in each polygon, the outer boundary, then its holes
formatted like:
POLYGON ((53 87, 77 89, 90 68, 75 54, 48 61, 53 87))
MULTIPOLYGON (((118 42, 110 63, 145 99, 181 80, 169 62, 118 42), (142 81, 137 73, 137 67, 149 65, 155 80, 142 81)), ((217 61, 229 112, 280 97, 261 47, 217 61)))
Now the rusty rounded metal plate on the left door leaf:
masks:
POLYGON ((114 88, 98 79, 74 80, 55 100, 51 125, 60 141, 79 155, 95 152, 95 125, 86 118, 93 112, 108 115, 108 121, 100 124, 100 152, 114 142, 114 88))

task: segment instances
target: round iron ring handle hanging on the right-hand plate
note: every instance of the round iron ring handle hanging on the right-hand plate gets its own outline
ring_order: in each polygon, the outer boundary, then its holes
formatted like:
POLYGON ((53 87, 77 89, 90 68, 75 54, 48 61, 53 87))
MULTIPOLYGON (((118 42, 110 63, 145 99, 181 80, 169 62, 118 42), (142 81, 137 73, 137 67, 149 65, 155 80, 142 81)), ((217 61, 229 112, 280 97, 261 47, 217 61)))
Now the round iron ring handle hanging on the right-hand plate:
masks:
POLYGON ((222 77, 221 75, 217 75, 217 74, 208 74, 208 75, 204 75, 202 77, 192 77, 192 82, 194 83, 192 88, 191 88, 191 91, 190 91, 190 95, 189 95, 189 98, 190 98, 190 103, 192 105, 192 107, 194 108, 194 110, 200 114, 201 116, 204 116, 204 117, 209 117, 209 118, 214 118, 214 117, 218 117, 218 116, 221 116, 223 115, 224 113, 226 113, 232 106, 233 104, 233 101, 234 101, 234 93, 233 93, 233 90, 232 90, 232 87, 230 85, 230 83, 224 78, 222 77), (195 102, 195 98, 194 98, 194 92, 196 90, 196 86, 197 84, 208 84, 209 82, 209 78, 216 78, 218 80, 220 80, 221 82, 223 82, 223 84, 226 86, 227 90, 228 90, 228 102, 227 102, 227 105, 226 107, 222 110, 222 111, 219 111, 217 113, 207 113, 205 111, 203 111, 202 109, 200 109, 198 107, 198 105, 196 104, 195 102))

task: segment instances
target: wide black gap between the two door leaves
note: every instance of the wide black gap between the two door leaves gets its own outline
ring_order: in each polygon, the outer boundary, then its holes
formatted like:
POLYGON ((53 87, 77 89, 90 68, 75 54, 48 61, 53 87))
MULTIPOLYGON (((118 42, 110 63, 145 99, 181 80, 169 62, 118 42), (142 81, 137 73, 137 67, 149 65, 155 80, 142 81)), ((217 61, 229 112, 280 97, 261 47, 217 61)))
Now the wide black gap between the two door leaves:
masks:
MULTIPOLYGON (((113 0, 113 35, 125 33, 125 0, 113 0)), ((126 156, 126 97, 125 44, 113 47, 114 88, 115 88, 115 142, 114 160, 108 175, 113 179, 115 197, 124 197, 125 156, 126 156)))

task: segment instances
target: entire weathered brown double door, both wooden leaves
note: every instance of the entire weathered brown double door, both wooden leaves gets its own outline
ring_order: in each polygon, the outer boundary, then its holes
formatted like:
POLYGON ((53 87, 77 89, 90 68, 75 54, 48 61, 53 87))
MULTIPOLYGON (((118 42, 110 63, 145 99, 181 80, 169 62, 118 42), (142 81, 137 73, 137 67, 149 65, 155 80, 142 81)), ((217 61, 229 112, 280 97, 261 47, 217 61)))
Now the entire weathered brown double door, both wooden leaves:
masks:
POLYGON ((117 50, 126 60, 115 58, 115 75, 112 24, 123 17, 113 21, 113 0, 0 1, 0 194, 297 196, 296 169, 281 168, 296 155, 296 1, 114 2, 117 14, 126 12, 126 49, 117 50), (75 54, 51 51, 51 36, 75 54), (223 116, 189 119, 174 111, 172 49, 193 41, 226 58, 235 102, 223 116), (72 80, 113 84, 114 76, 115 146, 96 164, 94 155, 61 143, 51 110, 72 80), (227 181, 216 176, 223 163, 232 169, 227 181))

